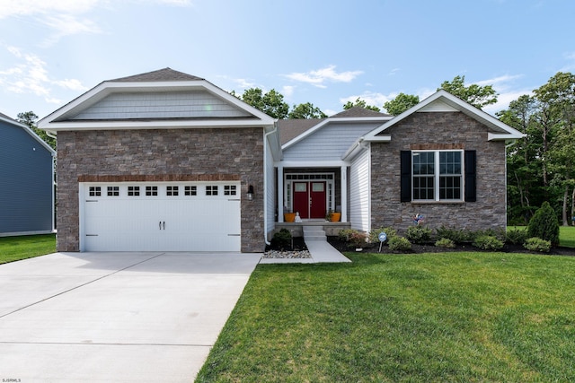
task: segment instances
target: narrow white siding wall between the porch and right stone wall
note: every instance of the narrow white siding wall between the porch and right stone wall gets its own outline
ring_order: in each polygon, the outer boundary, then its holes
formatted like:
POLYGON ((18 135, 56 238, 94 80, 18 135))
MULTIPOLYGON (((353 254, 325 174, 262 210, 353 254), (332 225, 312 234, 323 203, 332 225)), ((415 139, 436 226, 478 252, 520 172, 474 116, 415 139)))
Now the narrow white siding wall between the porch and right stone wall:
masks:
POLYGON ((369 220, 369 150, 351 163, 349 170, 349 222, 358 231, 370 231, 369 220))

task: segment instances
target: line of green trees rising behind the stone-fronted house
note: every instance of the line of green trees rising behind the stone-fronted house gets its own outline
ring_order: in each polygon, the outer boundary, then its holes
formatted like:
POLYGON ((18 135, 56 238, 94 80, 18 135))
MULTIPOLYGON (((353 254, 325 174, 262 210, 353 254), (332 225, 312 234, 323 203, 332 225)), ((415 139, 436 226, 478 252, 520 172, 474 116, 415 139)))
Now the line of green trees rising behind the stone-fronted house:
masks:
MULTIPOLYGON (((464 76, 441 83, 440 89, 478 109, 496 103, 498 97, 491 85, 466 85, 464 76)), ((231 94, 272 118, 327 118, 311 102, 290 108, 284 96, 274 89, 264 92, 250 88, 241 95, 235 91, 231 94)), ((399 93, 386 101, 382 109, 397 116, 419 102, 417 95, 399 93)), ((354 107, 382 110, 361 98, 343 105, 343 109, 354 107)), ((509 108, 500 110, 496 117, 525 134, 507 149, 509 224, 526 224, 545 201, 555 212, 561 212, 558 218, 561 217, 563 225, 575 224, 575 75, 555 74, 533 94, 511 101, 509 108)), ((19 113, 17 119, 56 149, 56 140, 36 127, 36 114, 19 113)))

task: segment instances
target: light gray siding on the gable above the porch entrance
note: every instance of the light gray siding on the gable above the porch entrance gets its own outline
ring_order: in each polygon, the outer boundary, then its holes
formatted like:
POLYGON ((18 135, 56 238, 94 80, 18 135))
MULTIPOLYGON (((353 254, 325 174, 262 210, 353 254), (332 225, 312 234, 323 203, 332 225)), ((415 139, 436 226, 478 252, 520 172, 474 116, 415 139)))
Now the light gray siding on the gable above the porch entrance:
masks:
POLYGON ((284 150, 284 161, 340 161, 358 137, 381 123, 337 124, 322 126, 312 135, 284 150))

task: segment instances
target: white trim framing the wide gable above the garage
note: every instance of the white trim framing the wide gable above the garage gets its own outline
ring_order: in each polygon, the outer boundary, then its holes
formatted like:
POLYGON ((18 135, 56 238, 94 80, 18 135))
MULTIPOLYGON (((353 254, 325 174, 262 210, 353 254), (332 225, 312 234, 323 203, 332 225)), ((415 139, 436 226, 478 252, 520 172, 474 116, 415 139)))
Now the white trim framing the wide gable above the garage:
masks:
POLYGON ((218 88, 206 80, 179 81, 179 82, 103 82, 95 86, 90 91, 72 100, 64 107, 57 109, 49 116, 42 118, 38 126, 56 133, 58 130, 76 129, 152 129, 152 128, 174 128, 174 127, 214 127, 214 126, 273 126, 274 118, 259 109, 239 100, 226 91, 218 88), (145 121, 66 121, 67 116, 74 116, 81 110, 87 109, 97 102, 103 100, 111 93, 115 92, 152 92, 152 91, 208 91, 213 96, 225 100, 238 109, 246 111, 252 118, 214 118, 214 119, 194 119, 183 118, 181 120, 145 120, 145 121), (63 121, 57 121, 63 119, 63 121))

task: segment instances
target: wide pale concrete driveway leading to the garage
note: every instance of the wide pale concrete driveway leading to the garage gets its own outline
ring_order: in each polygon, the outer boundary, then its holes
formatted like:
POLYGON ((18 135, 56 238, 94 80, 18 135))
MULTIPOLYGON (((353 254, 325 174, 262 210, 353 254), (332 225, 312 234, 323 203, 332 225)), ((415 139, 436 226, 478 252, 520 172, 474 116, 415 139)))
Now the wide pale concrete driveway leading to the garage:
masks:
POLYGON ((0 379, 191 382, 260 257, 56 253, 0 265, 0 379))

